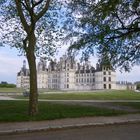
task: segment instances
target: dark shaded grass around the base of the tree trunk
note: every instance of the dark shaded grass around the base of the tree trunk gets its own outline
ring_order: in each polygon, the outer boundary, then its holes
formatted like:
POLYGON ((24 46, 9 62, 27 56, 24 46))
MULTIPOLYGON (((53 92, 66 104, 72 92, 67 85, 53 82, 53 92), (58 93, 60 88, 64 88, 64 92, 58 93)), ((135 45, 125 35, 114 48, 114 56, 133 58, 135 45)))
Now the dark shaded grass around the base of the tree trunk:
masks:
POLYGON ((30 118, 27 101, 0 101, 0 122, 53 120, 85 116, 113 116, 126 114, 124 111, 102 109, 92 106, 66 105, 39 102, 39 114, 30 118))

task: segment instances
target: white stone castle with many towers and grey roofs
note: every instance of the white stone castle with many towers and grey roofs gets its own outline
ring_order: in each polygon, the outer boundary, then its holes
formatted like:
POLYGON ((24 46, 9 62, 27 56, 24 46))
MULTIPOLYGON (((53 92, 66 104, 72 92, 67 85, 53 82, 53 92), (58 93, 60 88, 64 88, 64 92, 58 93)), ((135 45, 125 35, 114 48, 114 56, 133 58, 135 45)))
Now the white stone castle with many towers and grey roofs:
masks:
MULTIPOLYGON (((26 62, 17 73, 17 87, 29 88, 29 70, 26 62)), ((54 90, 116 89, 116 72, 107 64, 97 63, 94 68, 89 61, 78 63, 73 57, 63 55, 59 61, 49 64, 41 59, 37 65, 38 88, 54 90)))

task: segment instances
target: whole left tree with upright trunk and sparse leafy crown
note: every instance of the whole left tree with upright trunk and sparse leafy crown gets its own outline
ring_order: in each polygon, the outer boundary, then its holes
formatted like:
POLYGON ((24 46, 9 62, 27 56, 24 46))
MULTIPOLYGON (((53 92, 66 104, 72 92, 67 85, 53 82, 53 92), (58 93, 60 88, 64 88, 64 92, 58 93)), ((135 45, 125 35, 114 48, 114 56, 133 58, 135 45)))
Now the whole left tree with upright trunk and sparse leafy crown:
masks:
MULTIPOLYGON (((61 2, 61 1, 60 1, 61 2)), ((36 56, 52 55, 61 7, 51 0, 2 0, 0 2, 0 41, 25 54, 30 70, 29 115, 38 113, 36 56), (56 25, 56 26, 55 26, 56 25)))

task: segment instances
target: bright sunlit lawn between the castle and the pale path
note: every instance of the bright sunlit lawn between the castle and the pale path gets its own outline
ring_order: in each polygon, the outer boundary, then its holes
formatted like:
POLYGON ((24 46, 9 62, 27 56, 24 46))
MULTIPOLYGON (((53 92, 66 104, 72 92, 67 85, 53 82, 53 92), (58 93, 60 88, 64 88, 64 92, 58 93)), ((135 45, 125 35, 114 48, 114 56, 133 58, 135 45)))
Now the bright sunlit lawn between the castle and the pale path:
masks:
MULTIPOLYGON (((15 98, 25 98, 15 96, 15 98)), ((27 97, 26 97, 27 98, 27 97)), ((140 93, 130 90, 101 91, 101 92, 74 92, 74 93, 45 93, 39 94, 39 99, 47 100, 140 100, 140 93)))

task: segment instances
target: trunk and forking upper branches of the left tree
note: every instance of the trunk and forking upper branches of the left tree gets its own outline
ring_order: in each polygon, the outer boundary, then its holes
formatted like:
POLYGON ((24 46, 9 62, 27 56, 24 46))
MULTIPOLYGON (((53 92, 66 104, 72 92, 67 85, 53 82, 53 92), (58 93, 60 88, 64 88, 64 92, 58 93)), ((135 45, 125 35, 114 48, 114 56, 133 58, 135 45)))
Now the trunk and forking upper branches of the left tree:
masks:
POLYGON ((18 16, 20 17, 21 24, 27 36, 23 40, 23 49, 26 52, 29 69, 30 69, 30 97, 29 97, 29 115, 34 116, 38 113, 38 90, 37 90, 37 71, 35 62, 35 47, 36 47, 36 37, 35 37, 35 27, 36 23, 41 17, 44 16, 49 8, 51 0, 39 0, 39 1, 29 1, 29 0, 14 0, 16 4, 16 10, 18 16), (35 12, 37 6, 42 6, 42 8, 35 12), (27 18, 27 16, 29 18, 27 18), (29 22, 30 19, 30 22, 29 22))

